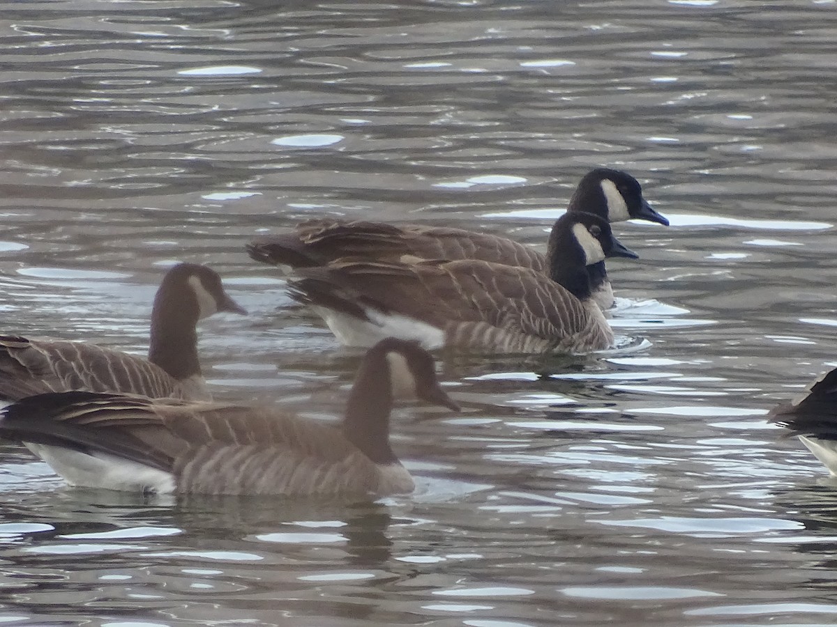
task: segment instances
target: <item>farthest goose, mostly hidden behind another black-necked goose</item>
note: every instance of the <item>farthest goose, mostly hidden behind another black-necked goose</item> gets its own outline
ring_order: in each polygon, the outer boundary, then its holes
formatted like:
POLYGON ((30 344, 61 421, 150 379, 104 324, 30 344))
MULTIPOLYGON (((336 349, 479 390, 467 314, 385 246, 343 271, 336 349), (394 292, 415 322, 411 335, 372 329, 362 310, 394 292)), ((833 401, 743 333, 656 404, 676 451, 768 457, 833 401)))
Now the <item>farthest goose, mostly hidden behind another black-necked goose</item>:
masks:
MULTIPOLYGON (((596 168, 582 178, 567 212, 593 213, 608 222, 635 218, 669 224, 645 201, 633 176, 609 168, 596 168)), ((256 261, 291 268, 322 266, 346 257, 383 262, 469 259, 539 272, 548 267, 547 255, 507 237, 460 228, 336 219, 301 222, 292 232, 254 239, 247 250, 256 261)), ((604 263, 588 266, 588 274, 599 306, 613 306, 613 289, 604 263)))

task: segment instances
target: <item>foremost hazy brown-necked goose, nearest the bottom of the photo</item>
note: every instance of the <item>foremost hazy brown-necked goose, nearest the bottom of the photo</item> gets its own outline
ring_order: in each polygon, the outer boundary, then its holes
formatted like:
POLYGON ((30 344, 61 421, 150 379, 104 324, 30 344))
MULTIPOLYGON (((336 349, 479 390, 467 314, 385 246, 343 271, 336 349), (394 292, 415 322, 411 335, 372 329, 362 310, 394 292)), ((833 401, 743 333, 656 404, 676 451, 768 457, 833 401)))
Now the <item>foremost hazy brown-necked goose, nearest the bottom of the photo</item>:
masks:
POLYGON ((412 492, 389 445, 393 397, 452 410, 433 358, 414 342, 369 349, 340 426, 254 408, 134 395, 30 396, 0 412, 0 436, 23 441, 71 485, 205 494, 412 492))

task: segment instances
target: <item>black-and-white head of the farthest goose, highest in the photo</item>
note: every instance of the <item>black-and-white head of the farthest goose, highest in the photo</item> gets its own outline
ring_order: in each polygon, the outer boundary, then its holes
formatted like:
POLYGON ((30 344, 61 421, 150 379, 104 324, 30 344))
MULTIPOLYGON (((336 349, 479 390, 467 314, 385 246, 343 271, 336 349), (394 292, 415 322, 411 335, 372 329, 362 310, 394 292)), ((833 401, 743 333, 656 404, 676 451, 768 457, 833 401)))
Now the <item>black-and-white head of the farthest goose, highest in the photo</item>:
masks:
POLYGON ((644 199, 639 181, 611 168, 596 168, 584 175, 567 211, 595 213, 608 222, 635 219, 669 226, 669 221, 644 199))

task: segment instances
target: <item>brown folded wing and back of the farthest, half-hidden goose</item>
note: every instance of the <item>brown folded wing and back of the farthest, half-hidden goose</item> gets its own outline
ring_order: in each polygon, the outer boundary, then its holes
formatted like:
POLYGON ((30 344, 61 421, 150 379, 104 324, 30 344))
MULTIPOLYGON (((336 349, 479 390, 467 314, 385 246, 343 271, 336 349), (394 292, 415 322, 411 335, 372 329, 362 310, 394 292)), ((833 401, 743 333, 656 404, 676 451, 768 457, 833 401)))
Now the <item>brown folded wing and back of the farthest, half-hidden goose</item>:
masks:
POLYGON ((295 268, 324 265, 341 258, 377 261, 478 259, 543 271, 540 252, 506 237, 465 229, 417 224, 309 220, 294 232, 261 237, 248 246, 264 263, 295 268))

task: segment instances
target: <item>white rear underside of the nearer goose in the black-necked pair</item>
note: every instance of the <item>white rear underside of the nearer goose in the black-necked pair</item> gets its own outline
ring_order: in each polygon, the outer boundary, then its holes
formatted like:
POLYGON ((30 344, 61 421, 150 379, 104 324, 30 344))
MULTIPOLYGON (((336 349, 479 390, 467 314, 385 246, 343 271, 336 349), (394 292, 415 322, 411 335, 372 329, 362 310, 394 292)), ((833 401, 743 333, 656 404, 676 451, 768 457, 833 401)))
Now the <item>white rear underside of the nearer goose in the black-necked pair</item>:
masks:
POLYGON ((331 333, 344 346, 370 348, 384 338, 414 339, 425 349, 444 346, 444 331, 421 320, 401 314, 383 314, 372 308, 364 309, 369 320, 357 319, 323 307, 313 307, 326 321, 331 333))

